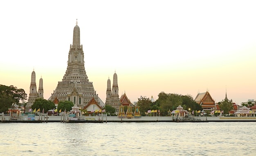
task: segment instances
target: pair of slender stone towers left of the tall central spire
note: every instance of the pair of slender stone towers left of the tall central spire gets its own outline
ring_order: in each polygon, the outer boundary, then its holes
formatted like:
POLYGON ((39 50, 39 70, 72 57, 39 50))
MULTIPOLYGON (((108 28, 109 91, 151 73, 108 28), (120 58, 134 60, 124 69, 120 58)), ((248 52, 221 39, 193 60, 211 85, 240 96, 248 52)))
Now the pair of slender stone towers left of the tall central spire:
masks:
POLYGON ((39 88, 38 88, 38 92, 37 92, 37 90, 36 90, 36 73, 33 70, 33 72, 31 73, 29 99, 28 99, 25 111, 28 111, 31 108, 31 106, 33 105, 33 103, 35 102, 35 100, 37 98, 42 98, 43 99, 43 79, 41 77, 40 80, 39 80, 39 88))

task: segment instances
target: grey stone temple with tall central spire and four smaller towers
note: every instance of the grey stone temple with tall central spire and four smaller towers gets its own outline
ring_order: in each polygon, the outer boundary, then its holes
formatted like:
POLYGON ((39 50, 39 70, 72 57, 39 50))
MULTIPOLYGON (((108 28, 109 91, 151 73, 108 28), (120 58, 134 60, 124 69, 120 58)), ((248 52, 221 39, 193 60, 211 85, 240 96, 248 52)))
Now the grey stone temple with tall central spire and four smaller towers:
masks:
MULTIPOLYGON (((120 101, 118 94, 117 74, 114 73, 113 75, 112 90, 110 86, 110 79, 108 78, 106 103, 104 103, 94 90, 93 83, 89 81, 84 64, 83 45, 80 44, 80 28, 76 21, 76 26, 73 31, 73 44, 70 44, 68 54, 66 73, 63 76, 63 79, 58 81, 56 89, 48 100, 53 101, 56 105, 59 101, 72 101, 74 105, 77 105, 79 108, 87 109, 89 109, 88 106, 91 105, 92 101, 94 101, 94 104, 99 108, 103 108, 106 104, 111 105, 118 111, 122 101, 120 101)), ((40 97, 43 98, 43 79, 41 77, 37 92, 36 73, 33 70, 31 74, 30 92, 26 109, 31 108, 34 101, 40 97)), ((123 97, 122 99, 125 99, 124 97, 126 97, 126 94, 121 97, 123 97)), ((131 102, 129 102, 129 105, 132 105, 131 102)))

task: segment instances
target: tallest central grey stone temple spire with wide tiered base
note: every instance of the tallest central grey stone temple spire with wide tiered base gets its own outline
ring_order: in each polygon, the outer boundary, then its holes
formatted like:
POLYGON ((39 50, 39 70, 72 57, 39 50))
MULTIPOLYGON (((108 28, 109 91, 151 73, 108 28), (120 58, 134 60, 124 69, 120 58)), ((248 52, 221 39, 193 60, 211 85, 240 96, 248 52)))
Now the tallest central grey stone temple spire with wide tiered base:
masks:
POLYGON ((55 104, 58 101, 72 101, 79 108, 84 108, 94 98, 99 106, 104 106, 103 101, 94 90, 93 83, 89 81, 86 75, 84 63, 83 45, 80 44, 80 28, 76 20, 66 73, 63 79, 58 81, 49 100, 54 101, 55 104))

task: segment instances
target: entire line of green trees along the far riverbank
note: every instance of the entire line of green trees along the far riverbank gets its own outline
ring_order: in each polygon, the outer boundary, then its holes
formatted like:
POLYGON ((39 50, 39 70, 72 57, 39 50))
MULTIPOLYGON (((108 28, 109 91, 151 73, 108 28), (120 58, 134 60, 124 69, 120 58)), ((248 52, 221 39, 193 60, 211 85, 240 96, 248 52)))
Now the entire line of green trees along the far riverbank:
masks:
MULTIPOLYGON (((24 89, 18 89, 14 86, 5 86, 0 85, 0 112, 7 112, 9 108, 13 107, 14 104, 17 105, 26 105, 25 100, 27 100, 27 94, 24 89)), ((219 107, 224 110, 224 114, 228 114, 230 110, 233 109, 232 100, 223 100, 219 102, 219 107)), ((182 95, 174 93, 165 93, 160 92, 158 94, 158 99, 154 102, 151 101, 148 97, 139 97, 137 101, 137 106, 142 116, 146 115, 148 110, 160 110, 161 116, 167 116, 168 110, 176 110, 176 108, 181 105, 184 110, 202 110, 200 104, 196 103, 193 100, 191 95, 182 95)), ((59 101, 57 110, 66 110, 70 111, 74 106, 71 101, 59 101)), ((38 98, 35 100, 34 104, 31 106, 31 109, 40 108, 40 112, 47 112, 48 110, 56 109, 55 104, 52 101, 38 98)), ((106 113, 110 115, 115 115, 115 108, 112 108, 110 105, 105 105, 103 109, 106 109, 106 113)), ((82 110, 86 112, 87 110, 82 110)))

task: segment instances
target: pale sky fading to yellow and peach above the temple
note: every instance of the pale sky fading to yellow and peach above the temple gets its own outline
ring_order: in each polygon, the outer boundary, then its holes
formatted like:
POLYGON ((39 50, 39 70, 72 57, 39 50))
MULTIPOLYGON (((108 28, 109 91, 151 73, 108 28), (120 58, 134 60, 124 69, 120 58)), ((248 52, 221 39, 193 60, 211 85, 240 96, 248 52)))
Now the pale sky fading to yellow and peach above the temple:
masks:
POLYGON ((106 101, 209 91, 218 103, 256 100, 256 2, 243 0, 13 0, 0 2, 0 84, 29 95, 31 73, 49 99, 80 27, 85 71, 106 101))

